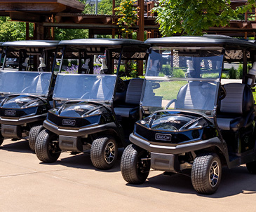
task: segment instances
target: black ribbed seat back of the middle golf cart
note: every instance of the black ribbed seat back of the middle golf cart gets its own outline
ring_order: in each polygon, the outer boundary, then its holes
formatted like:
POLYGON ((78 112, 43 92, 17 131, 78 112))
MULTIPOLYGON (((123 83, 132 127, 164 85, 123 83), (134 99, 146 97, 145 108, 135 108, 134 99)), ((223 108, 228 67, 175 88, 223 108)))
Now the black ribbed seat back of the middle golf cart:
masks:
POLYGON ((144 80, 142 78, 133 78, 130 80, 126 92, 127 104, 140 104, 143 82, 144 80))

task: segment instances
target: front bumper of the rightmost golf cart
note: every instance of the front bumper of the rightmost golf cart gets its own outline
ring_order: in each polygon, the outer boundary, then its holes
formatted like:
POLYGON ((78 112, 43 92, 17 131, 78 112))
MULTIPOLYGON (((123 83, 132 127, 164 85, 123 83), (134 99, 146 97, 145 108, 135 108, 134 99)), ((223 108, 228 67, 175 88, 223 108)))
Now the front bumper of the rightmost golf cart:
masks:
POLYGON ((218 137, 214 137, 213 139, 208 139, 204 141, 180 143, 180 144, 176 144, 175 146, 152 144, 150 143, 150 141, 144 140, 135 134, 130 134, 129 139, 130 139, 130 142, 134 143, 137 146, 140 146, 140 148, 143 148, 144 150, 147 150, 153 153, 179 155, 182 153, 189 153, 191 151, 210 148, 212 146, 217 146, 223 152, 223 145, 218 137))

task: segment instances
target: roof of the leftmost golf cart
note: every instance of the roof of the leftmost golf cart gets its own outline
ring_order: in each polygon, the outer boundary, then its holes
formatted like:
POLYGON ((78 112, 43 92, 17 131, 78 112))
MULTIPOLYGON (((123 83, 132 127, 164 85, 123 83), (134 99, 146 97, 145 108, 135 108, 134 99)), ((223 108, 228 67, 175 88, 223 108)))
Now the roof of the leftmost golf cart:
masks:
POLYGON ((34 40, 34 41, 8 41, 4 42, 3 46, 8 46, 13 50, 18 50, 20 48, 55 48, 58 46, 59 41, 43 41, 43 40, 34 40))

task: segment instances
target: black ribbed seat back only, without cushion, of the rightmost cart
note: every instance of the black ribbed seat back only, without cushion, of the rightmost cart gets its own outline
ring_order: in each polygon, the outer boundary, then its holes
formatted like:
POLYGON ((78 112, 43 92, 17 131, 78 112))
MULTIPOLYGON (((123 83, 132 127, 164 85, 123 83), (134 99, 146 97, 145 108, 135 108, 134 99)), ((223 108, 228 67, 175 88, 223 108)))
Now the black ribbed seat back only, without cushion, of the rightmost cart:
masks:
POLYGON ((220 113, 243 115, 254 108, 252 90, 241 83, 225 84, 226 97, 220 101, 220 113))

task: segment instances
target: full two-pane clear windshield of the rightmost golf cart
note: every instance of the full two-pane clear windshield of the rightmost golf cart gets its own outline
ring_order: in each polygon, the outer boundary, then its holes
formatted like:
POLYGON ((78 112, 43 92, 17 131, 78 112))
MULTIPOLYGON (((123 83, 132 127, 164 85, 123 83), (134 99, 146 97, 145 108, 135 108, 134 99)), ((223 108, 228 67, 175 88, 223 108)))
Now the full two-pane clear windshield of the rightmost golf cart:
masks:
POLYGON ((142 99, 144 111, 213 111, 223 54, 220 48, 152 48, 142 99))

